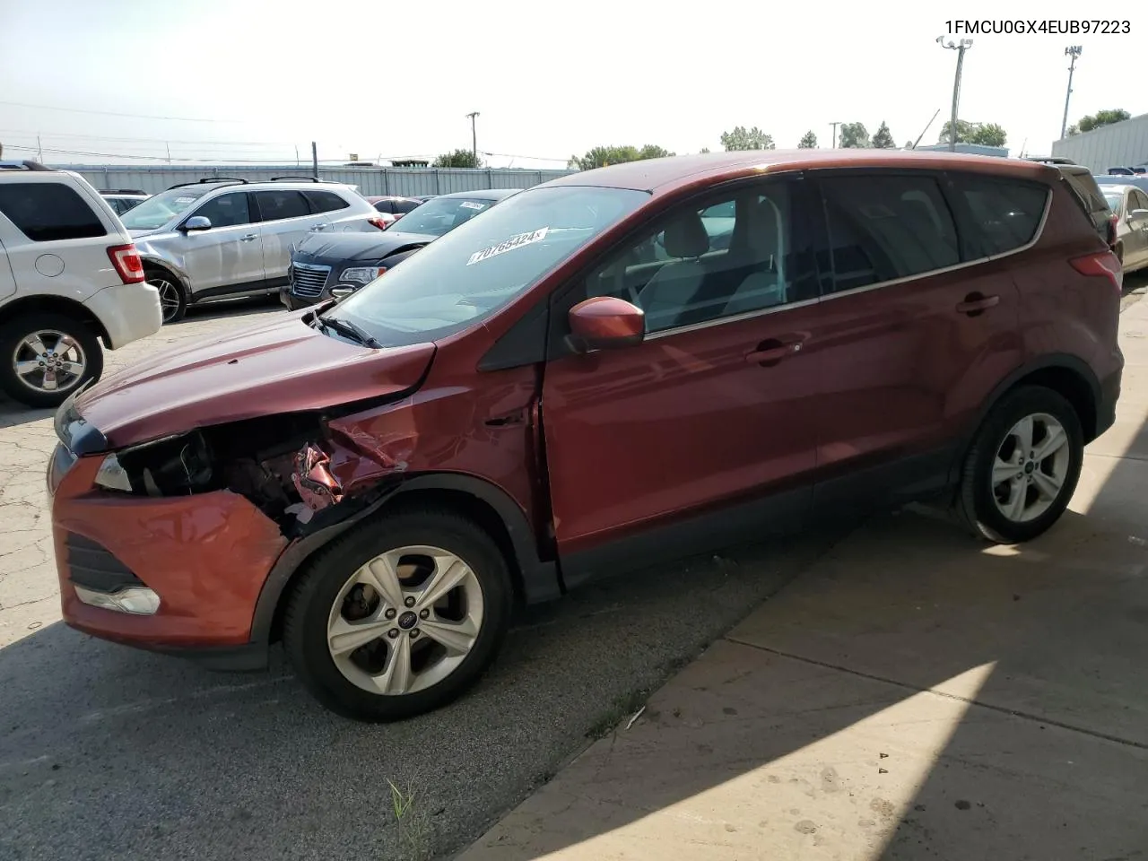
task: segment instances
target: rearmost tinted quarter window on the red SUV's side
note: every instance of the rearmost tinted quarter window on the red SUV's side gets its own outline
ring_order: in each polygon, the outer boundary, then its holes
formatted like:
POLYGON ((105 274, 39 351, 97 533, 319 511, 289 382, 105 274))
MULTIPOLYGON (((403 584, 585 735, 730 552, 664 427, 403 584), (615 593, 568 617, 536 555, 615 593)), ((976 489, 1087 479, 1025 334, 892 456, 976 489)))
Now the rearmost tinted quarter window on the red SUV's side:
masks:
MULTIPOLYGON (((984 254, 1007 254, 1035 238, 1048 204, 1047 186, 971 176, 955 178, 954 185, 968 204, 977 228, 972 239, 984 254)), ((1100 202, 1108 208, 1103 197, 1100 202)))

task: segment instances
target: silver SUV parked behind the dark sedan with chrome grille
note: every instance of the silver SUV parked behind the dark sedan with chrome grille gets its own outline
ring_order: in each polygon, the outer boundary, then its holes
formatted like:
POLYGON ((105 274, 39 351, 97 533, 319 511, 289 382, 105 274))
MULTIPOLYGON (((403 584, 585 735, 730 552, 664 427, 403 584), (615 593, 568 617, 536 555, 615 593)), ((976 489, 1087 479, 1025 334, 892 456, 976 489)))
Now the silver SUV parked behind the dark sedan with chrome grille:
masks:
POLYGON ((307 177, 184 183, 148 197, 123 222, 160 290, 164 323, 200 302, 278 295, 292 246, 312 231, 387 226, 351 186, 307 177))

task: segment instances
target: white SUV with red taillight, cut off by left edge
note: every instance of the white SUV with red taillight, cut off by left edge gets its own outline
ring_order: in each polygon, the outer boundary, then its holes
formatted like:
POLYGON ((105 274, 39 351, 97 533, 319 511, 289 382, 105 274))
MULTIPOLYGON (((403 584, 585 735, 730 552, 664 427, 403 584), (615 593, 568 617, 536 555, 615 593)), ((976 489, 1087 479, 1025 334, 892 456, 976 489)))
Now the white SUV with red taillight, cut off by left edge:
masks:
POLYGON ((56 406, 111 350, 160 331, 131 236, 77 173, 0 162, 0 388, 56 406))

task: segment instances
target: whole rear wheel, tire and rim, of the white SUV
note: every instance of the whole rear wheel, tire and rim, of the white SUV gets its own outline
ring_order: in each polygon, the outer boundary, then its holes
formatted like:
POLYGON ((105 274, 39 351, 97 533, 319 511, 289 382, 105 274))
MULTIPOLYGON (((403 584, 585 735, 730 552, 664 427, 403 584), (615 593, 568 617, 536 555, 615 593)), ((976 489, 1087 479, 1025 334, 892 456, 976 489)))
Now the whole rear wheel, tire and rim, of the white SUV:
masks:
POLYGON ((33 312, 0 325, 0 388, 29 406, 59 406, 103 372, 100 340, 79 317, 33 312))

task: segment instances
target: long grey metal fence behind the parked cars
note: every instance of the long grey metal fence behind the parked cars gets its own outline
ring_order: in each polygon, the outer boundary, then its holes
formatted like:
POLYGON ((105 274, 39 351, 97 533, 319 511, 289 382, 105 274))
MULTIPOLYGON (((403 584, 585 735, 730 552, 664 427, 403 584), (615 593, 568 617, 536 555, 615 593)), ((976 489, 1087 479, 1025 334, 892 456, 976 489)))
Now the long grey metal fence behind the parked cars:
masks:
MULTIPOLYGON (((76 171, 100 189, 138 188, 156 194, 177 183, 194 183, 211 177, 234 177, 249 183, 272 177, 311 176, 310 165, 284 164, 279 166, 241 165, 134 165, 134 164, 76 164, 55 165, 76 171)), ((571 170, 519 170, 512 168, 319 168, 319 178, 358 186, 366 196, 394 194, 418 196, 474 192, 486 188, 529 188, 571 170)))

